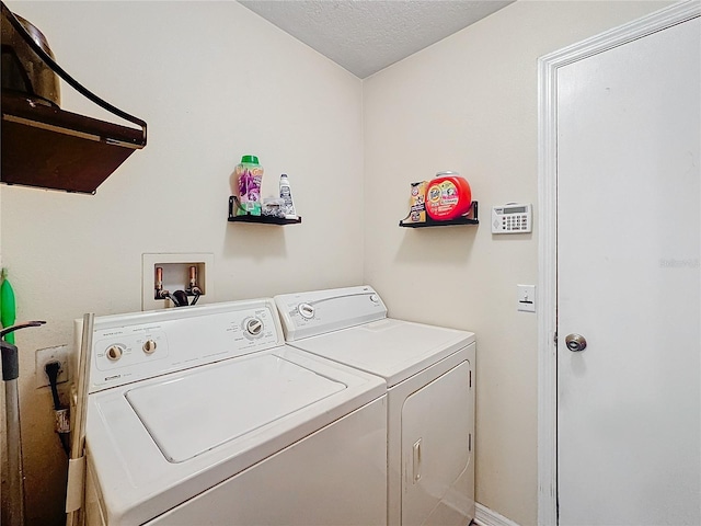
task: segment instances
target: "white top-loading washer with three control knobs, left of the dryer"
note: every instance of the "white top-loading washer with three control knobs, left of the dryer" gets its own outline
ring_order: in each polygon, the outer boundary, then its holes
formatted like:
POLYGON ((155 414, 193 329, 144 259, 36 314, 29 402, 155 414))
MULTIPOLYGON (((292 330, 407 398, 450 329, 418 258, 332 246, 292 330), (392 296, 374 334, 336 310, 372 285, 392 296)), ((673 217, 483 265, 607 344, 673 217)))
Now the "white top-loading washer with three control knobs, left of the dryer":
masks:
POLYGON ((89 525, 386 524, 384 381, 272 298, 97 317, 90 375, 89 525))

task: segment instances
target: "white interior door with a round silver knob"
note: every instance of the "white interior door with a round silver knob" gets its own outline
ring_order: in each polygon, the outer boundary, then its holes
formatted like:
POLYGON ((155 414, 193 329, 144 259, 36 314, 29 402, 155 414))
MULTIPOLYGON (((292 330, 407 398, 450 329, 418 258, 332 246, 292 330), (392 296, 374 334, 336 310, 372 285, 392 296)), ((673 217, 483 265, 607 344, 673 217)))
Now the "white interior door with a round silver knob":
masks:
POLYGON ((701 524, 700 35, 558 70, 561 525, 701 524))

